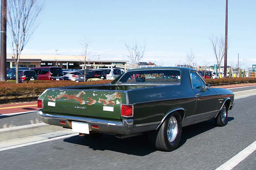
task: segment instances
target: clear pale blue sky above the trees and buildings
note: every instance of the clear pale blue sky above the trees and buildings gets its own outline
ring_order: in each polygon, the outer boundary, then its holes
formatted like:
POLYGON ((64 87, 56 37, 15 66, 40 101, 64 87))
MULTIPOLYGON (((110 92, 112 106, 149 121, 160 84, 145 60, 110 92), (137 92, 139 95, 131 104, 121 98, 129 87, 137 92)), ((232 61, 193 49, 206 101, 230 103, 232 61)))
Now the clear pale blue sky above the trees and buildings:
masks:
MULTIPOLYGON (((237 53, 240 65, 256 64, 255 7, 228 2, 228 65, 237 65, 237 53)), ((213 65, 209 36, 225 35, 225 0, 45 0, 38 22, 23 54, 77 55, 86 37, 91 59, 128 60, 125 44, 146 41, 141 61, 183 64, 192 49, 197 65, 213 65)))

